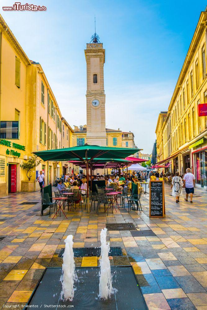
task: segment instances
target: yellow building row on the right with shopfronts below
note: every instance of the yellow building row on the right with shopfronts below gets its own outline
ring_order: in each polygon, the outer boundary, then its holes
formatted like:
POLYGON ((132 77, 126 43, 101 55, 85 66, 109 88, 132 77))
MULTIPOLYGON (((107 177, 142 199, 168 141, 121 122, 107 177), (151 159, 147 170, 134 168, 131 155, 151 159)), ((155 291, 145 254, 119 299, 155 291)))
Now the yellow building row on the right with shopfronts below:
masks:
POLYGON ((206 49, 205 11, 200 14, 163 125, 156 128, 159 154, 163 140, 163 158, 158 156, 157 162, 170 164, 172 172, 180 174, 190 167, 200 187, 207 184, 207 117, 198 115, 198 105, 207 103, 206 49))

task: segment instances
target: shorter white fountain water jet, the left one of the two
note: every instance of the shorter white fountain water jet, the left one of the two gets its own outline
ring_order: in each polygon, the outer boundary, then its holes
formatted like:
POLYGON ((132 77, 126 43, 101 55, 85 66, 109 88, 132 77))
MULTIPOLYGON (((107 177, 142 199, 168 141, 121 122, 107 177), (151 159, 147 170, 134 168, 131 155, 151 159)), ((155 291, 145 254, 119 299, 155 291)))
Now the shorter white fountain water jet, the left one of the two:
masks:
POLYGON ((62 283, 61 299, 69 299, 72 301, 74 297, 74 281, 77 281, 77 275, 75 274, 72 235, 69 235, 65 239, 65 252, 63 254, 62 275, 60 281, 62 283))

